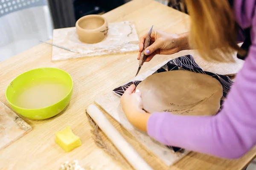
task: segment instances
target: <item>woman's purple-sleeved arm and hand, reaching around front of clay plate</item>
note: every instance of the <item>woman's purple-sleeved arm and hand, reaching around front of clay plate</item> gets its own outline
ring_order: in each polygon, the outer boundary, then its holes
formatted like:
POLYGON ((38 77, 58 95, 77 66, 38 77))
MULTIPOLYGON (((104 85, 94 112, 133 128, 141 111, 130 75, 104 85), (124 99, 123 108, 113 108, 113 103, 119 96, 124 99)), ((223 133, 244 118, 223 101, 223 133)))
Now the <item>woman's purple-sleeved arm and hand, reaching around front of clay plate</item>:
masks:
MULTIPOLYGON (((256 144, 256 41, 252 44, 224 108, 216 116, 149 116, 143 111, 140 95, 125 93, 121 105, 129 122, 166 145, 225 158, 242 156, 256 144)), ((129 88, 131 92, 134 89, 134 85, 129 88)))

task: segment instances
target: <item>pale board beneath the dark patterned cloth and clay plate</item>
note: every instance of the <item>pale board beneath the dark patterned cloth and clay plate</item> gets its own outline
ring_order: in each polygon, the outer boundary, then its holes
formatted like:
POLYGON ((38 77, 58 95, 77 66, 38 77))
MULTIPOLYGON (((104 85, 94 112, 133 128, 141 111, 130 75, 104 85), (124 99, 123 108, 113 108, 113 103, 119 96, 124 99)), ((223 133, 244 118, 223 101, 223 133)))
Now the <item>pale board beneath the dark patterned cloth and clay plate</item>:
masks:
MULTIPOLYGON (((136 80, 141 81, 145 79, 146 77, 157 71, 158 68, 165 65, 167 62, 169 62, 169 60, 162 62, 161 64, 155 66, 154 68, 146 71, 143 74, 140 74, 134 79, 131 79, 129 82, 136 80)), ((140 142, 147 150, 150 150, 151 153, 157 156, 167 166, 171 166, 172 164, 183 158, 183 156, 185 156, 187 153, 189 153, 188 150, 181 150, 175 153, 173 150, 169 149, 165 145, 160 144, 159 142, 149 137, 147 133, 144 133, 133 127, 128 122, 125 113, 122 111, 119 96, 116 96, 116 94, 114 94, 112 91, 108 94, 96 98, 95 102, 97 105, 99 105, 100 108, 102 108, 111 117, 113 117, 113 119, 119 122, 120 125, 128 130, 128 132, 131 133, 131 135, 134 136, 138 140, 138 142, 140 142)))

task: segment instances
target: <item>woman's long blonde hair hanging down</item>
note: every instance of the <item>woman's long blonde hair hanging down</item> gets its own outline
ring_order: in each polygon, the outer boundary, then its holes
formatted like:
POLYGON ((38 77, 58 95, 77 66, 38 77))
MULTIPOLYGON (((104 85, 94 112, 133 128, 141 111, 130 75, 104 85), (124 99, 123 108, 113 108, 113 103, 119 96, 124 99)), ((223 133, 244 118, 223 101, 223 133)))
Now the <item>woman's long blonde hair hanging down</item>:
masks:
POLYGON ((236 42, 238 28, 228 0, 185 0, 185 5, 191 16, 189 45, 201 57, 233 61, 235 51, 244 54, 236 42))

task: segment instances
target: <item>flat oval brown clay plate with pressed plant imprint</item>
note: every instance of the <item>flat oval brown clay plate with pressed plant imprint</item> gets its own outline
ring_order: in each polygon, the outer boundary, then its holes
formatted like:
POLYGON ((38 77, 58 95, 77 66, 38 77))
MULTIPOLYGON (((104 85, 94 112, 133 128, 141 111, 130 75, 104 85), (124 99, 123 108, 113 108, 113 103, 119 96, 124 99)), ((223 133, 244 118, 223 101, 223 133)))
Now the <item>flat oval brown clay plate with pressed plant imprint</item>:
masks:
POLYGON ((185 70, 152 74, 137 89, 141 91, 143 108, 149 113, 215 115, 223 95, 217 79, 185 70))

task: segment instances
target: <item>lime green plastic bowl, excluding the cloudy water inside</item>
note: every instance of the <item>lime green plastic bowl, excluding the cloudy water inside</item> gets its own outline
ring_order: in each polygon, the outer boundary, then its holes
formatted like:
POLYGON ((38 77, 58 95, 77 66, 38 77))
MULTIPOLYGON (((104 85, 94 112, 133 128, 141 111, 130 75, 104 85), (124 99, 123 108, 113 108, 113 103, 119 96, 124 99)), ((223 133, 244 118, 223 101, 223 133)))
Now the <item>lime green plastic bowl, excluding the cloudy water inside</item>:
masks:
MULTIPOLYGON (((58 68, 37 68, 34 70, 27 71, 23 74, 17 76, 7 87, 6 89, 6 99, 9 104, 12 106, 20 115, 27 117, 29 119, 48 119, 52 116, 57 115, 64 108, 67 107, 70 102, 73 92, 73 80, 70 75, 58 68), (61 99, 59 102, 49 105, 44 108, 28 109, 20 108, 13 104, 15 98, 15 91, 20 90, 21 88, 26 88, 33 83, 35 79, 57 79, 61 82, 62 85, 65 85, 69 91, 67 95, 61 99)), ((54 94, 52 94, 54 95, 54 94)))

